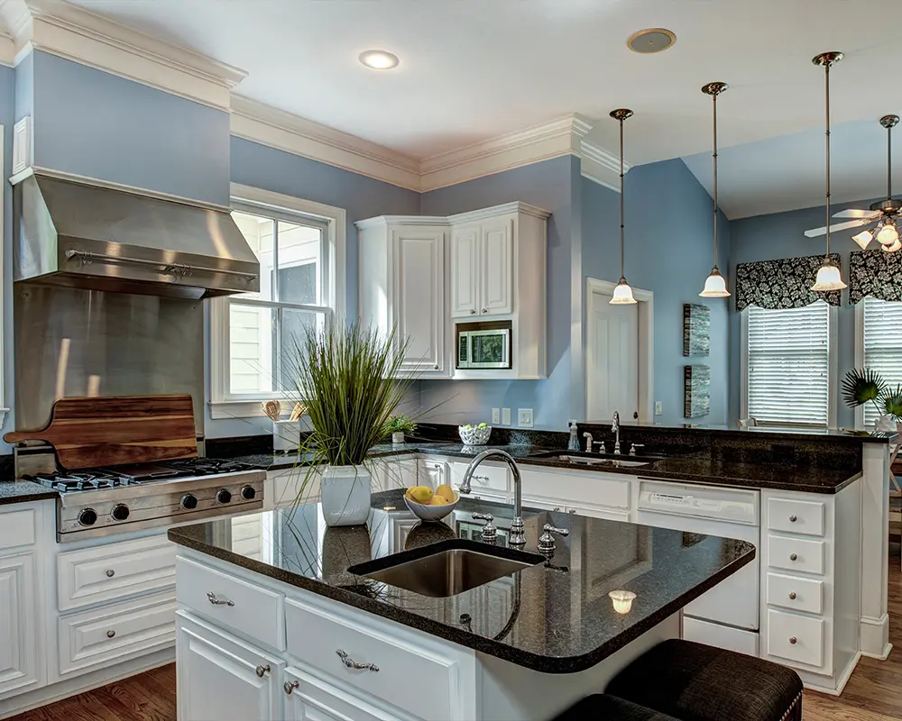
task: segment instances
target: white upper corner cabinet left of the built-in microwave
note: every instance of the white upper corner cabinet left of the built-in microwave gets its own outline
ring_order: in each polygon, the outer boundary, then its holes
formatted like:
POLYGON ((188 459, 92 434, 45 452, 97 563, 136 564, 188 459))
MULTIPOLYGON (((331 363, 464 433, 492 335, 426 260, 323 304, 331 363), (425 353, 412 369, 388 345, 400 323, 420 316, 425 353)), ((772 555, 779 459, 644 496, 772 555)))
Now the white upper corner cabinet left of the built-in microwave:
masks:
POLYGON ((360 318, 404 339, 402 370, 448 378, 444 218, 382 216, 357 223, 360 318))

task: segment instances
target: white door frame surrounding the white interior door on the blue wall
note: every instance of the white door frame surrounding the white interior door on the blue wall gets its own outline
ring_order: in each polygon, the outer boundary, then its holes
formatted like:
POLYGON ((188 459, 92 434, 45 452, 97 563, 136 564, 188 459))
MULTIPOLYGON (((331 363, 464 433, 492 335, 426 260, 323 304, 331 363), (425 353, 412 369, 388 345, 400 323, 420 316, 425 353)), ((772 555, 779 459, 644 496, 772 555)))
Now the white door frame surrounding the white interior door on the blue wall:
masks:
MULTIPOLYGON (((592 324, 589 319, 594 312, 594 294, 612 296, 616 283, 599 278, 585 278, 585 415, 587 420, 599 421, 601 418, 589 418, 589 397, 592 394, 592 374, 589 369, 594 365, 593 343, 591 342, 592 324)), ((655 417, 654 379, 655 379, 655 294, 650 290, 632 288, 632 296, 639 302, 639 423, 652 423, 655 417)), ((624 418, 626 424, 632 418, 624 418)))

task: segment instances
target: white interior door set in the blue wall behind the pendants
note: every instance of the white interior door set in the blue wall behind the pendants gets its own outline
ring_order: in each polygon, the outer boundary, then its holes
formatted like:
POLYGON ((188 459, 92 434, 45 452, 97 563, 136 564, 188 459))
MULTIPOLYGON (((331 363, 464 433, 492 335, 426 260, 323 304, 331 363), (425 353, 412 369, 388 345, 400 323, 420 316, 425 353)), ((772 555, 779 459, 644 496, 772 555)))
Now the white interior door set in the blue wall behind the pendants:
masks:
POLYGON ((593 292, 586 358, 591 421, 610 421, 619 411, 624 423, 639 412, 639 306, 612 306, 610 296, 593 292))

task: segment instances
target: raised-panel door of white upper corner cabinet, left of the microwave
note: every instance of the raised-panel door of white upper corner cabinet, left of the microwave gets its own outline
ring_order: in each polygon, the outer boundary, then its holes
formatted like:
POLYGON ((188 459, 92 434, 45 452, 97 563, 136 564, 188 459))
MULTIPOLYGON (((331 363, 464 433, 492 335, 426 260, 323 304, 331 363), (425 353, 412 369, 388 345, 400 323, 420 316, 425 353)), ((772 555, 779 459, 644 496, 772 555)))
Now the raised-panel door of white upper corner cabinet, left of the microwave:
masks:
POLYGON ((446 370, 444 253, 443 231, 395 231, 395 323, 399 342, 410 338, 404 370, 446 370))

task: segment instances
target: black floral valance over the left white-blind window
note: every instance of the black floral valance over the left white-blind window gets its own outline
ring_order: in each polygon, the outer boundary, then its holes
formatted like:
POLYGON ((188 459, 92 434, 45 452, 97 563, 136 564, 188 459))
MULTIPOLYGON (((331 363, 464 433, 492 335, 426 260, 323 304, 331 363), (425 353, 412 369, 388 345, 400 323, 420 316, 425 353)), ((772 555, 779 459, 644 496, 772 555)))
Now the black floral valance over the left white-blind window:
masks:
MULTIPOLYGON (((830 260, 839 266, 839 253, 831 253, 830 260)), ((818 300, 839 306, 841 291, 814 293, 811 290, 823 262, 823 255, 808 255, 740 263, 736 266, 736 310, 743 311, 749 306, 804 308, 818 300)))

